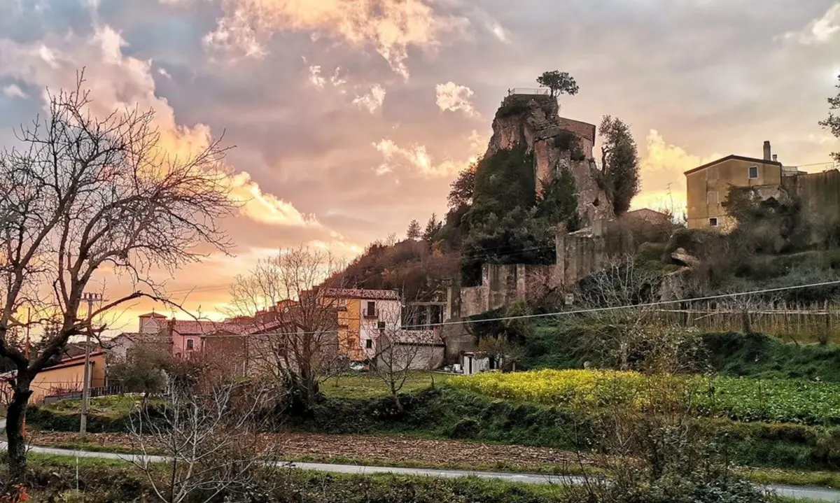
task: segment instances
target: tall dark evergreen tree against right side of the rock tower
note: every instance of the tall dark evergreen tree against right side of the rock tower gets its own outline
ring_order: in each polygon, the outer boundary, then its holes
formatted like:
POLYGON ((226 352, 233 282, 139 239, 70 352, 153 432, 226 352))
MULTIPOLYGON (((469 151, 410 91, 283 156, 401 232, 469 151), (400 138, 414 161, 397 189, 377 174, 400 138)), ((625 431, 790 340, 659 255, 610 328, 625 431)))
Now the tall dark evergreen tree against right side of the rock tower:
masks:
POLYGON ((630 126, 609 115, 601 120, 601 178, 616 215, 627 212, 641 189, 638 147, 630 126))

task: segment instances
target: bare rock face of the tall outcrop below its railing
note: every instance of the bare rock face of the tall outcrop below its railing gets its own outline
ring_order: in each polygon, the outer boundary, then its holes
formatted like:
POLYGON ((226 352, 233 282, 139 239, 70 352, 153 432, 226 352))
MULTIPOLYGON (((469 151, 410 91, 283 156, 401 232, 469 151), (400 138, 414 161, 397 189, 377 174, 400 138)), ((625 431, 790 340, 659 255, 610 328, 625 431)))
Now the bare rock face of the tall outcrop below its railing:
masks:
POLYGON ((496 112, 486 156, 517 144, 528 145, 534 154, 534 190, 538 194, 559 170, 570 170, 575 178, 578 214, 588 226, 614 217, 612 204, 598 184, 592 156, 595 135, 595 125, 559 117, 553 97, 514 94, 505 98, 496 112))

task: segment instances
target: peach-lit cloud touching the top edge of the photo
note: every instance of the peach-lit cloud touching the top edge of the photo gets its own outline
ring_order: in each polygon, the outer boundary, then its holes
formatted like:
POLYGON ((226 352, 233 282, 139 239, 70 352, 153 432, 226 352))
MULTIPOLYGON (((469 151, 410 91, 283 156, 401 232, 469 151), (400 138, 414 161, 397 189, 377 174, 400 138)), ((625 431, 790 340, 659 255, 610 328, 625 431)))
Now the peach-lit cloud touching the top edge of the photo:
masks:
POLYGON ((264 54, 281 30, 310 32, 372 45, 391 68, 408 76, 408 48, 431 48, 441 34, 467 23, 443 16, 421 0, 222 0, 223 15, 205 43, 213 48, 264 54))

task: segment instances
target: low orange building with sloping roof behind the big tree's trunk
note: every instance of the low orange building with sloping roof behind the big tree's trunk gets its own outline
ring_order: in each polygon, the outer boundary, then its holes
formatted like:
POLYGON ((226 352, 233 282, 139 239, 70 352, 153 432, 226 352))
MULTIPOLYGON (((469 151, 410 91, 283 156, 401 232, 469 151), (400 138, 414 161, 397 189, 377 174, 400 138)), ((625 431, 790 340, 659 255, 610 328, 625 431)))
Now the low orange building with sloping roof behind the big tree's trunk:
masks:
MULTIPOLYGON (((91 371, 88 375, 89 385, 98 388, 105 385, 105 351, 97 350, 90 354, 91 371)), ((0 375, 0 395, 11 396, 9 380, 14 378, 14 372, 0 375)), ((65 395, 78 392, 84 387, 85 356, 73 356, 62 359, 60 363, 41 370, 30 386, 31 403, 41 403, 46 396, 65 395)), ((80 395, 81 396, 81 395, 80 395)))

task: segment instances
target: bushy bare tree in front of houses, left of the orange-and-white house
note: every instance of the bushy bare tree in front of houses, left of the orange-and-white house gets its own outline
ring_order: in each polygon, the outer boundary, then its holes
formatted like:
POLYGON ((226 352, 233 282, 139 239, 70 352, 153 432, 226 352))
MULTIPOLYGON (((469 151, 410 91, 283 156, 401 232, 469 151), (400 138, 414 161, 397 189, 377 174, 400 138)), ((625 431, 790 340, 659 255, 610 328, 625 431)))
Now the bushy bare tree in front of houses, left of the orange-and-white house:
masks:
POLYGON ((302 406, 311 405, 339 362, 339 312, 346 307, 335 286, 342 270, 328 252, 287 249, 231 287, 230 314, 250 316, 254 324, 252 371, 289 387, 302 406))

